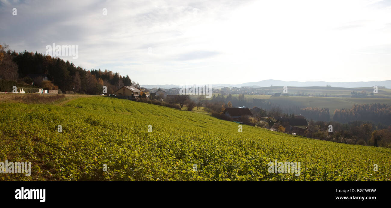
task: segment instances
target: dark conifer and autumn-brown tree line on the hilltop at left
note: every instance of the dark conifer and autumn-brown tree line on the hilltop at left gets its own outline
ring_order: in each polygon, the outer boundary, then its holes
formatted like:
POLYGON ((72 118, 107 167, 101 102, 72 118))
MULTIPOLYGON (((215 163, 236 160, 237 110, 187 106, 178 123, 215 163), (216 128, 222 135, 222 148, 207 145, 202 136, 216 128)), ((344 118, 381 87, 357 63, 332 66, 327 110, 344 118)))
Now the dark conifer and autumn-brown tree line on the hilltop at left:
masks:
POLYGON ((17 53, 9 50, 7 45, 0 46, 0 78, 48 90, 93 95, 101 94, 103 86, 107 86, 107 93, 112 94, 122 86, 138 84, 132 82, 128 75, 121 76, 107 69, 86 70, 76 67, 73 62, 37 52, 17 53))

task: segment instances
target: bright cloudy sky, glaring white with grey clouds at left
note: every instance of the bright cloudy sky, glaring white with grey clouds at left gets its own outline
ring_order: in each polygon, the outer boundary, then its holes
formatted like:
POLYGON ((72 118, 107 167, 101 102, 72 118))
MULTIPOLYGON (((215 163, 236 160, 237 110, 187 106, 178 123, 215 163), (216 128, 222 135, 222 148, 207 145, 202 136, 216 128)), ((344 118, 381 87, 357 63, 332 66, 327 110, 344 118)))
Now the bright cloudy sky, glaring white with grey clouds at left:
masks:
POLYGON ((391 0, 0 0, 0 43, 141 85, 383 81, 391 0))

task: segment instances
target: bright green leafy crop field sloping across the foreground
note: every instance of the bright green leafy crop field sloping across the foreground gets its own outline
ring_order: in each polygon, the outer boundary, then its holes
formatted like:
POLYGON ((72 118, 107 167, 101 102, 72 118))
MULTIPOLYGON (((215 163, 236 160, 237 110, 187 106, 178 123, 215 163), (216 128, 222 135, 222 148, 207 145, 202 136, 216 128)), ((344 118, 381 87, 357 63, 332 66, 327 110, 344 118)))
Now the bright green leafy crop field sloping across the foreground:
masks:
POLYGON ((32 162, 32 174, 0 180, 391 180, 391 149, 247 125, 238 132, 237 123, 203 113, 100 96, 0 104, 6 159, 32 162), (301 174, 269 173, 274 160, 300 162, 301 174))

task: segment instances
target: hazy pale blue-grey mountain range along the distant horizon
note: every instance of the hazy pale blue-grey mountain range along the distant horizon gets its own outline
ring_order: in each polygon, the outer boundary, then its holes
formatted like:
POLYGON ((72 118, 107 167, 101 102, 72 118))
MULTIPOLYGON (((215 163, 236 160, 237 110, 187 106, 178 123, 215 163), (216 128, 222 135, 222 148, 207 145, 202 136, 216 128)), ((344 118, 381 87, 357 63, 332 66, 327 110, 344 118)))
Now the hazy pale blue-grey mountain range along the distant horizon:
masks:
MULTIPOLYGON (((242 86, 251 86, 256 87, 268 87, 268 86, 326 86, 331 85, 332 87, 346 87, 346 88, 357 88, 357 87, 372 87, 372 86, 386 86, 386 88, 391 88, 391 80, 386 81, 369 81, 369 82, 325 82, 325 81, 307 81, 307 82, 298 82, 298 81, 281 81, 274 79, 267 79, 258 82, 247 82, 243 84, 231 85, 231 84, 216 84, 210 85, 213 88, 221 87, 242 87, 242 86)), ((178 88, 179 85, 141 85, 145 88, 178 88)))

